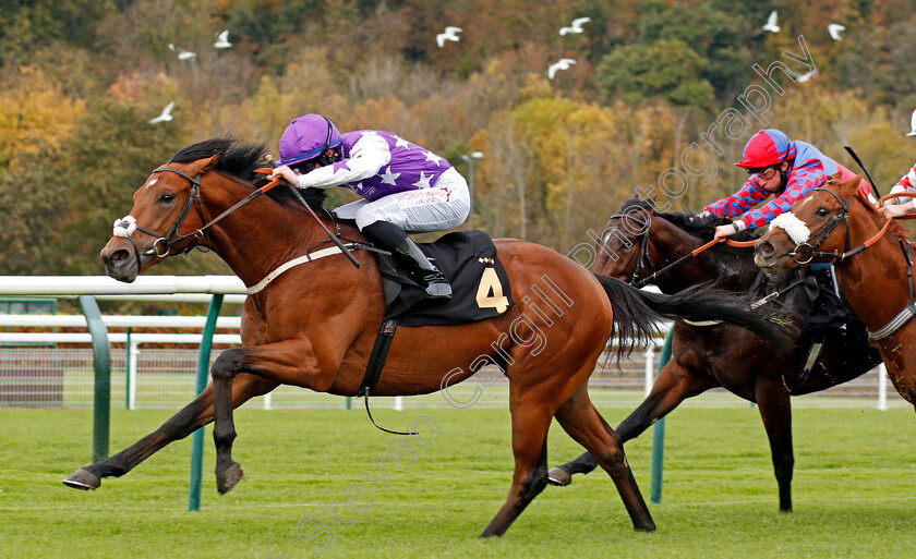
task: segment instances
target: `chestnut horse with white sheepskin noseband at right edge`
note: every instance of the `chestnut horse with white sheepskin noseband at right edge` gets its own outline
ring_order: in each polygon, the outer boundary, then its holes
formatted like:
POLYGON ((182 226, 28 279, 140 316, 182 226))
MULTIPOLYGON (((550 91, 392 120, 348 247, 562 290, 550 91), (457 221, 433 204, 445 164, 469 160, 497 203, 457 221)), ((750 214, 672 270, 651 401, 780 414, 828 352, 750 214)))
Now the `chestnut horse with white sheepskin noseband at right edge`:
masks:
POLYGON ((856 190, 860 180, 861 175, 843 182, 834 174, 811 191, 784 214, 784 224, 772 227, 757 241, 755 262, 771 274, 835 263, 840 287, 881 352, 891 382, 916 406, 909 245, 904 229, 861 197, 856 190))

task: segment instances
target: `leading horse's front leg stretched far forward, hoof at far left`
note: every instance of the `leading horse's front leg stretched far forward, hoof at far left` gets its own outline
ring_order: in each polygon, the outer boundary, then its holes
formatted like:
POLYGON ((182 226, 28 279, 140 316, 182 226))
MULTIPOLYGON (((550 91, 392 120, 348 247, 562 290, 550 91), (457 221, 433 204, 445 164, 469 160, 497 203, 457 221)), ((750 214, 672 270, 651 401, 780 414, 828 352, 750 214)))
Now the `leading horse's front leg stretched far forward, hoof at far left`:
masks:
MULTIPOLYGON (((255 396, 269 392, 276 386, 276 382, 269 382, 253 375, 239 375, 232 386, 231 405, 238 408, 255 396)), ((213 416, 213 385, 210 385, 158 429, 101 462, 81 467, 69 475, 63 483, 76 489, 97 489, 101 485, 101 478, 124 475, 169 442, 183 439, 208 424, 213 416)))

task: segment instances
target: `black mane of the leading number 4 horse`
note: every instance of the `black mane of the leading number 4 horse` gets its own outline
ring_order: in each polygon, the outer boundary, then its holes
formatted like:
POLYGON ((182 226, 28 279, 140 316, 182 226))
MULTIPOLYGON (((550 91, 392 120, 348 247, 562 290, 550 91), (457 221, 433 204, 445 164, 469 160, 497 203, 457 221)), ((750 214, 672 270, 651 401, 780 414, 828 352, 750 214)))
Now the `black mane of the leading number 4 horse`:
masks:
MULTIPOLYGON (((241 141, 231 137, 214 137, 192 144, 176 153, 170 163, 191 163, 208 157, 219 156, 214 171, 234 177, 253 187, 260 187, 267 183, 266 175, 254 172, 255 169, 269 167, 266 160, 267 148, 264 144, 242 144, 241 141)), ((324 189, 303 189, 299 193, 313 209, 321 210, 327 193, 324 189)), ((267 195, 274 200, 285 205, 299 207, 301 203, 292 193, 292 189, 280 185, 267 191, 267 195)))

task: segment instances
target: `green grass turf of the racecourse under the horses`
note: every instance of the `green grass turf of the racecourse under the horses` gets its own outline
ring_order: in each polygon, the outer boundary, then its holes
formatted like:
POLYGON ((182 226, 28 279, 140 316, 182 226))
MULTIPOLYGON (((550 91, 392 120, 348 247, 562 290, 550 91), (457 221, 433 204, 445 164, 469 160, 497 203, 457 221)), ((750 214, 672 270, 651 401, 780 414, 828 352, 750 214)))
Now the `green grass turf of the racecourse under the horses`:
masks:
MULTIPOLYGON (((625 410, 603 410, 616 425, 625 410)), ((665 559, 913 557, 916 554, 916 415, 912 409, 796 410, 795 512, 778 512, 769 446, 756 409, 685 409, 666 425, 659 526, 635 533, 603 472, 547 487, 503 538, 479 539, 509 488, 513 455, 507 410, 378 410, 384 426, 418 415, 443 430, 405 470, 391 466, 397 437, 376 430, 361 410, 236 414, 234 458, 245 479, 217 496, 212 430, 205 438, 203 507, 188 511, 190 438, 172 443, 96 491, 61 479, 88 462, 89 410, 0 410, 0 557, 267 558, 315 557, 324 537, 297 537, 297 523, 342 501, 361 474, 371 507, 348 528, 335 526, 322 557, 665 559)), ((119 451, 170 415, 114 411, 119 451)), ((649 500, 651 433, 627 443, 649 500)), ((580 448, 551 429, 550 463, 580 448)), ((363 500, 362 502, 366 502, 363 500)), ((333 522, 312 520, 310 530, 333 522)))

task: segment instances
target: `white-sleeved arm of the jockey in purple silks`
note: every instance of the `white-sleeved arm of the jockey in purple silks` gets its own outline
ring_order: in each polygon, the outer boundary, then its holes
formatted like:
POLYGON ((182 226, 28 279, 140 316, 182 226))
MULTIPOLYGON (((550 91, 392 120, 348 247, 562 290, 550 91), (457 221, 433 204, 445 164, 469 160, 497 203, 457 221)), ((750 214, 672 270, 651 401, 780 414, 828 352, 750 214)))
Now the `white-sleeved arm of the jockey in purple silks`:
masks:
POLYGON ((375 177, 391 160, 388 143, 374 132, 363 133, 350 149, 350 157, 299 175, 299 187, 329 189, 375 177))

